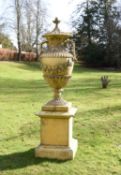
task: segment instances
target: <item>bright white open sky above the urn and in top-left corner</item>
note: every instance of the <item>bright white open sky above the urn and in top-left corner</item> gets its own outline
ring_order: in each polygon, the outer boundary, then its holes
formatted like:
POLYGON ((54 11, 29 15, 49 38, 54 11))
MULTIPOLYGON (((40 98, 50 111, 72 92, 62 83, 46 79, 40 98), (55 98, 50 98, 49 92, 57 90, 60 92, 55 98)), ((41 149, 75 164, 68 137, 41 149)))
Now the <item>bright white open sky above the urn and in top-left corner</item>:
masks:
MULTIPOLYGON (((0 15, 7 8, 11 0, 0 0, 0 15)), ((48 10, 48 20, 49 23, 55 18, 58 17, 61 20, 60 26, 63 30, 71 30, 70 27, 70 18, 71 14, 78 2, 83 0, 43 0, 44 4, 47 5, 48 10)))

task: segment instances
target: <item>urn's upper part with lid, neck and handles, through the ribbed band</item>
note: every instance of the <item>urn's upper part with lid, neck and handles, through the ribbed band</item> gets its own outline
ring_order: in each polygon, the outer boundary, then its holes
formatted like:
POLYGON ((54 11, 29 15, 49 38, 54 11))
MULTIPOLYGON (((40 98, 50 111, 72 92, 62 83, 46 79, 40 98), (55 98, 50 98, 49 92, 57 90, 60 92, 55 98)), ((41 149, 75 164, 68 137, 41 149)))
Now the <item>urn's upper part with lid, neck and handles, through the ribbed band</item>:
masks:
POLYGON ((75 46, 72 41, 72 34, 69 32, 61 32, 58 24, 60 21, 55 18, 53 21, 55 23, 55 28, 43 35, 46 41, 41 43, 41 57, 51 57, 51 58, 74 58, 75 57, 75 46), (45 47, 43 47, 45 44, 45 47))

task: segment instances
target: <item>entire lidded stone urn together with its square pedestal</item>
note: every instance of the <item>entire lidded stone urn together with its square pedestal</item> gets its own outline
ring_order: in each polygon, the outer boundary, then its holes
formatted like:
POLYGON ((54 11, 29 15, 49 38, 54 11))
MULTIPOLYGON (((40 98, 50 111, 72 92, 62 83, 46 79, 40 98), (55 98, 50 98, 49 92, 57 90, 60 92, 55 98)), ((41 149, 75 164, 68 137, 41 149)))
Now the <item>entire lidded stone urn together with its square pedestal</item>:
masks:
POLYGON ((72 137, 76 108, 61 97, 61 92, 72 76, 75 44, 71 33, 60 31, 60 21, 55 18, 53 22, 53 31, 43 36, 40 61, 44 79, 53 88, 54 97, 37 113, 41 118, 41 131, 35 156, 68 160, 74 158, 77 150, 77 140, 72 137))

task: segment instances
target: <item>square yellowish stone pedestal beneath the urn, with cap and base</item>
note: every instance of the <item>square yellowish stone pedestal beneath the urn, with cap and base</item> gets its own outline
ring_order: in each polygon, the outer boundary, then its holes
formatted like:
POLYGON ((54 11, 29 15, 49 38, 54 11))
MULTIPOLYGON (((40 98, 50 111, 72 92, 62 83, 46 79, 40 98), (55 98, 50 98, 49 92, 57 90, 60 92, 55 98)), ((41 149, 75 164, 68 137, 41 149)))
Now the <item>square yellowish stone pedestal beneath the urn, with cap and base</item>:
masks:
POLYGON ((73 159, 77 150, 77 140, 72 137, 73 117, 76 108, 68 112, 42 111, 41 144, 35 149, 35 156, 60 160, 73 159))

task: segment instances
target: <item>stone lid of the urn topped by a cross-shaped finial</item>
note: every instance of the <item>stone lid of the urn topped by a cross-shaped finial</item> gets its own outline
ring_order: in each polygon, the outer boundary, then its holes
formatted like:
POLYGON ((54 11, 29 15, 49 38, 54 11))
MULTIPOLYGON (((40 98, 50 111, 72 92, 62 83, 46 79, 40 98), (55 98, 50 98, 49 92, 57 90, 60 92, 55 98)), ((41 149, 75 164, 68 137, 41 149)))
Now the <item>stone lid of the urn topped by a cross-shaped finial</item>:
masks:
POLYGON ((53 37, 58 37, 58 38, 70 38, 72 37, 72 33, 70 32, 61 32, 58 25, 60 23, 60 20, 56 17, 55 20, 53 21, 53 23, 55 24, 55 28, 52 30, 52 32, 48 32, 45 35, 43 35, 43 37, 49 39, 49 38, 53 38, 53 37))

